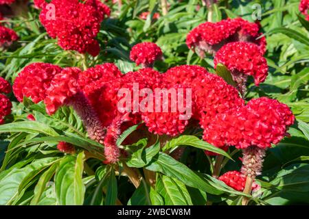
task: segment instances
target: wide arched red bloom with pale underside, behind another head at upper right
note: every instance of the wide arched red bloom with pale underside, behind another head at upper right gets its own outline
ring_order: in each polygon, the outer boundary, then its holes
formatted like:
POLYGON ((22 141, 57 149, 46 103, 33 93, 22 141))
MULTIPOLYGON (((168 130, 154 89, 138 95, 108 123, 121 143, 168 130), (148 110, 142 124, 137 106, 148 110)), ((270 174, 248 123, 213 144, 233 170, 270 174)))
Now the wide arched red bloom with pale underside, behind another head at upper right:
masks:
POLYGON ((254 42, 262 53, 266 50, 266 39, 264 37, 256 40, 262 34, 259 33, 260 26, 257 23, 249 23, 242 18, 226 19, 217 23, 206 22, 195 27, 187 35, 187 47, 196 49, 198 55, 204 53, 214 54, 222 44, 227 42, 254 42))

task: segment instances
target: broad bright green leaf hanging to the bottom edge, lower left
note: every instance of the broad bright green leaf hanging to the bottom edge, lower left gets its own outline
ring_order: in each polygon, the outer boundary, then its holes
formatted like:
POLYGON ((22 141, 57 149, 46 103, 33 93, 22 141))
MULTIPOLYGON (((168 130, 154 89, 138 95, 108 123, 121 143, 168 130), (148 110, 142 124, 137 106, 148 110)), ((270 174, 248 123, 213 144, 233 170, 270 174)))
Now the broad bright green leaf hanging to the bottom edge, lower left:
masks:
POLYGON ((55 184, 60 205, 82 205, 85 187, 82 183, 84 152, 64 157, 56 170, 55 184))

